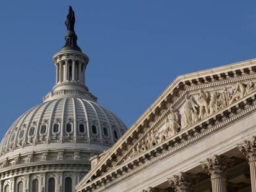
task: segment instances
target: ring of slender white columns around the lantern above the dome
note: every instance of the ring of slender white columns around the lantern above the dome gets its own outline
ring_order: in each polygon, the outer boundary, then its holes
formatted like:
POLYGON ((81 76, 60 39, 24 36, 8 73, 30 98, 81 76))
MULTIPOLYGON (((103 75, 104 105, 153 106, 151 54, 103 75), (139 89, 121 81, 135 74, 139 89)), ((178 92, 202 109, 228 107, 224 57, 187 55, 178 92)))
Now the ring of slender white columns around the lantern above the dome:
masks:
POLYGON ((73 81, 85 84, 85 64, 80 61, 66 59, 56 64, 56 83, 73 81), (72 67, 70 74, 69 67, 72 67), (69 77, 72 77, 71 79, 69 77))

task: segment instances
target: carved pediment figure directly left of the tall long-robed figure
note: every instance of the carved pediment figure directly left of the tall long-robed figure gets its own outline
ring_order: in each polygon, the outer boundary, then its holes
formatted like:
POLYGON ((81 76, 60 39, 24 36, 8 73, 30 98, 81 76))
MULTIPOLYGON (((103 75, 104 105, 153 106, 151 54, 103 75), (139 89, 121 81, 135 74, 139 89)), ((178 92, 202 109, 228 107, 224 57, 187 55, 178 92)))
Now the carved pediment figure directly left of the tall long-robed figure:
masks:
POLYGON ((171 107, 170 114, 165 120, 165 131, 167 133, 167 137, 174 135, 179 130, 179 116, 177 112, 171 107))

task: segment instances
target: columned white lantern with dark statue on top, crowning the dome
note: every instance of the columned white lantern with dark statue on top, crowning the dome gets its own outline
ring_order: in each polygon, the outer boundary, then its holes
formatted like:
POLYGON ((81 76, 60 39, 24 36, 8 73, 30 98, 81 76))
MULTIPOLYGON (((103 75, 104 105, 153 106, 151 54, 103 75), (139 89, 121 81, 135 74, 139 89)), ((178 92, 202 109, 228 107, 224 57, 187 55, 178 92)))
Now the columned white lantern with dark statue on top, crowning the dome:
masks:
POLYGON ((75 13, 71 6, 69 6, 65 24, 67 27, 66 44, 60 52, 53 56, 56 82, 51 93, 46 94, 43 100, 83 98, 96 102, 97 98, 89 92, 85 85, 85 69, 89 58, 77 45, 77 35, 74 30, 75 13))

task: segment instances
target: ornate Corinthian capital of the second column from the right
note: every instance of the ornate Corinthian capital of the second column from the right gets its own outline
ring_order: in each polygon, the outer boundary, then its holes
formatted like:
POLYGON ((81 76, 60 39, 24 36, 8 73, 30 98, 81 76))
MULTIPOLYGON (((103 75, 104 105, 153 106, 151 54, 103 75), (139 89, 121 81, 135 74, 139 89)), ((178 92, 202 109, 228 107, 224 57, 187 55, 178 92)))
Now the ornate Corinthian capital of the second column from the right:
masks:
POLYGON ((233 160, 228 157, 220 157, 215 155, 212 159, 202 162, 203 169, 211 176, 211 178, 226 178, 227 169, 232 167, 233 160))

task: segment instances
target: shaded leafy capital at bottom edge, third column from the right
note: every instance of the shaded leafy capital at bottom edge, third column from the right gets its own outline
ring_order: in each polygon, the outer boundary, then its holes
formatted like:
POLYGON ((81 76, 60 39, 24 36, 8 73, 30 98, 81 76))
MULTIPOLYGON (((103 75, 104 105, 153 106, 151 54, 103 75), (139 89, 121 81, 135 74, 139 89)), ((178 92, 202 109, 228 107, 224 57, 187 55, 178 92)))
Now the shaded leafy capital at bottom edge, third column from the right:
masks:
POLYGON ((179 175, 173 175, 173 178, 168 178, 168 182, 171 188, 174 188, 176 192, 188 192, 192 191, 193 175, 190 173, 180 172, 179 175))

